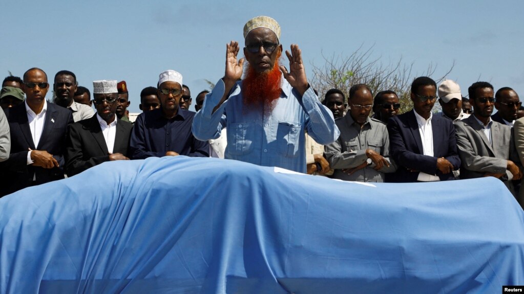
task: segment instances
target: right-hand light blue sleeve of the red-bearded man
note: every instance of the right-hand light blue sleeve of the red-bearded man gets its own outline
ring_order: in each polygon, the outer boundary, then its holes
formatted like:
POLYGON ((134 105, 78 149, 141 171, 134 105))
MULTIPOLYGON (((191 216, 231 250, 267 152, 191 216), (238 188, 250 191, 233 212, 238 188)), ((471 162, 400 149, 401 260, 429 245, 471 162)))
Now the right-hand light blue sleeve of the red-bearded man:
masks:
MULTIPOLYGON (((295 89, 293 89, 292 93, 294 96, 300 97, 295 89)), ((313 140, 319 144, 326 145, 339 138, 340 131, 333 119, 333 113, 328 107, 320 103, 319 97, 313 91, 313 87, 310 86, 304 95, 297 99, 299 99, 302 108, 309 116, 305 128, 313 140)))

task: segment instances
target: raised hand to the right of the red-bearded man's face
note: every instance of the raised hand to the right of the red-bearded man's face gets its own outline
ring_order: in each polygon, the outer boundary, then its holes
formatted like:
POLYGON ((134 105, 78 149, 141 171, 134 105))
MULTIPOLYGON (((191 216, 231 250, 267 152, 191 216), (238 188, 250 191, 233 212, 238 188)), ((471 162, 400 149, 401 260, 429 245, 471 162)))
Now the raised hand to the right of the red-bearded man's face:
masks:
POLYGON ((300 95, 304 95, 308 89, 308 78, 305 76, 304 64, 302 63, 302 51, 297 44, 291 44, 291 53, 286 50, 286 55, 289 59, 289 72, 283 65, 280 65, 280 71, 291 87, 297 89, 300 95))

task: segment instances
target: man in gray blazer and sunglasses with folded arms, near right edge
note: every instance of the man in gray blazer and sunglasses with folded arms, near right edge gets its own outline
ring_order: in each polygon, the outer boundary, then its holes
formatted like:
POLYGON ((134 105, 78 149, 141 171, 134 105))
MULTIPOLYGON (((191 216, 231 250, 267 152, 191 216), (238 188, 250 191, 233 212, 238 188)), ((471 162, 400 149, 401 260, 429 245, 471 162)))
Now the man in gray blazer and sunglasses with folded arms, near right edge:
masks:
POLYGON ((455 122, 461 178, 494 176, 515 195, 511 179, 522 177, 520 161, 511 128, 490 118, 495 104, 493 86, 476 82, 468 93, 473 115, 455 122))

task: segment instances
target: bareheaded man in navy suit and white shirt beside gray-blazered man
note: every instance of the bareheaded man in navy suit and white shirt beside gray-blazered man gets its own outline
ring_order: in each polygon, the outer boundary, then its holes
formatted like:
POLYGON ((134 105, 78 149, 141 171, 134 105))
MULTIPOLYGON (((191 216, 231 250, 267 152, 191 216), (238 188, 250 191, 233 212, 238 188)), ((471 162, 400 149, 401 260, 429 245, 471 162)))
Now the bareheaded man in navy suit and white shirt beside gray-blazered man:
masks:
POLYGON ((433 182, 454 179, 460 167, 455 128, 449 119, 433 116, 436 83, 429 77, 418 77, 411 84, 413 109, 391 117, 390 154, 398 165, 397 172, 387 174, 386 182, 433 182))

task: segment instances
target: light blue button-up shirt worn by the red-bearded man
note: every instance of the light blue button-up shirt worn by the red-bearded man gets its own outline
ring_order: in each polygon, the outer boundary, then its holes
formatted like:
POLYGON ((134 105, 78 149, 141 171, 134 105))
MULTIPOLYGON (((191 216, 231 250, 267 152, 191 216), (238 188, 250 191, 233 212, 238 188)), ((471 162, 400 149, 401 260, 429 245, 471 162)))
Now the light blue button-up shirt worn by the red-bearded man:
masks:
POLYGON ((305 173, 305 132, 319 144, 339 138, 332 112, 323 106, 309 87, 302 97, 282 77, 282 92, 275 108, 248 109, 242 101, 242 82, 214 113, 225 92, 224 81, 216 83, 193 120, 193 135, 206 141, 219 138, 227 128, 224 157, 263 166, 278 166, 305 173))

